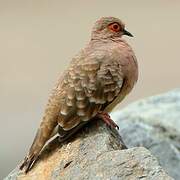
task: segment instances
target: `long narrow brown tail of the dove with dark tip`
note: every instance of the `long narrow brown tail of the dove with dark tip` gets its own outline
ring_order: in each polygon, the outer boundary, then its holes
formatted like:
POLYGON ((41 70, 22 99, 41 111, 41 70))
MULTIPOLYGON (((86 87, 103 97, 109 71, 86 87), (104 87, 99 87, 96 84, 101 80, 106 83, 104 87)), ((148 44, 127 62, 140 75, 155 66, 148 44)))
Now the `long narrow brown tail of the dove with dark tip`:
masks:
POLYGON ((56 125, 57 121, 55 121, 55 119, 50 120, 44 118, 41 122, 29 153, 20 166, 20 169, 24 169, 25 173, 31 169, 45 143, 52 137, 51 134, 53 133, 56 125))

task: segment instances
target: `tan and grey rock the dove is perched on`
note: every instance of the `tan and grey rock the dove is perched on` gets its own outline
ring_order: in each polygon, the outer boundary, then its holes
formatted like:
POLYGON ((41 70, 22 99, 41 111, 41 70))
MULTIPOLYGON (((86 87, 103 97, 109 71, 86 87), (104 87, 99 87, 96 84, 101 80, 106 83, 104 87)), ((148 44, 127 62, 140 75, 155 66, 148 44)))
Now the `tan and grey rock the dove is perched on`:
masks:
POLYGON ((142 147, 126 149, 116 130, 102 121, 91 122, 71 141, 57 138, 25 175, 18 168, 6 180, 170 180, 157 159, 142 147))

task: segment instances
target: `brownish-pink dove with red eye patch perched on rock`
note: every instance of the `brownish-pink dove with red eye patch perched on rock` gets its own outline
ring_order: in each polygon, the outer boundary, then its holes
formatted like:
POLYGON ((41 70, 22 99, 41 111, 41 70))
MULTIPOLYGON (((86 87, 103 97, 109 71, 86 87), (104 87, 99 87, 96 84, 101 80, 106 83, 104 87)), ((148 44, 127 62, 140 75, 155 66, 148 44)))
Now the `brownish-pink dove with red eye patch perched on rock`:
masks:
POLYGON ((102 17, 95 22, 89 43, 72 58, 52 90, 40 127, 20 166, 25 173, 57 133, 63 142, 96 117, 118 128, 109 113, 138 79, 136 56, 123 35, 133 37, 118 18, 102 17))

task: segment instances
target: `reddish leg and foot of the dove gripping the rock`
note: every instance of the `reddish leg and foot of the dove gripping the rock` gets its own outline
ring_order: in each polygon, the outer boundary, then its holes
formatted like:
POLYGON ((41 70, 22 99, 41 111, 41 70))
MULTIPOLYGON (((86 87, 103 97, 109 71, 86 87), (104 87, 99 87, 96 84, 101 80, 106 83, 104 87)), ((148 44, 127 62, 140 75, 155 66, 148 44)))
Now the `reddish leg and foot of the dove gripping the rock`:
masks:
POLYGON ((119 129, 119 126, 111 119, 107 112, 99 111, 96 117, 102 119, 109 127, 119 129))

